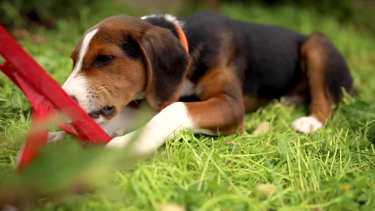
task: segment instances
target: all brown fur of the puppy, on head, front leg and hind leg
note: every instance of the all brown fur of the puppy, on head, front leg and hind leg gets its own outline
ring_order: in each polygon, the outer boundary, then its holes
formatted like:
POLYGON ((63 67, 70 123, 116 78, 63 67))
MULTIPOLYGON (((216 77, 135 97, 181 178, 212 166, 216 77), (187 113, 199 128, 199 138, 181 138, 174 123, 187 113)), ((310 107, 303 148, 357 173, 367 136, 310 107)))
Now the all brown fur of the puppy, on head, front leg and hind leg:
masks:
MULTIPOLYGON (((100 30, 91 41, 82 73, 89 76, 90 88, 96 92, 99 102, 116 108, 112 116, 141 92, 145 92, 147 101, 156 110, 178 101, 184 79, 192 77, 189 64, 201 54, 199 45, 190 53, 190 58, 170 30, 126 15, 107 18, 93 28, 97 27, 100 30), (108 35, 111 35, 110 41, 108 35), (120 46, 124 36, 136 40, 142 59, 130 59, 123 54, 120 46), (105 67, 93 67, 90 64, 99 53, 113 54, 110 56, 116 59, 105 67), (163 69, 164 64, 172 69, 163 69)), ((204 75, 194 81, 201 89, 198 95, 201 102, 186 102, 185 105, 199 128, 229 135, 243 132, 245 112, 257 110, 270 99, 260 99, 257 94, 243 96, 238 69, 245 65, 245 57, 237 59, 230 33, 218 36, 222 42, 217 45, 223 50, 207 62, 204 75)), ((313 34, 302 45, 303 77, 288 95, 311 98, 311 115, 324 122, 330 116, 333 99, 324 83, 329 58, 321 39, 320 35, 313 34)), ((72 52, 74 63, 78 57, 76 48, 72 52)))

